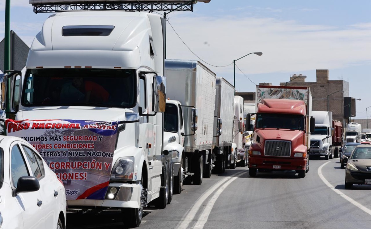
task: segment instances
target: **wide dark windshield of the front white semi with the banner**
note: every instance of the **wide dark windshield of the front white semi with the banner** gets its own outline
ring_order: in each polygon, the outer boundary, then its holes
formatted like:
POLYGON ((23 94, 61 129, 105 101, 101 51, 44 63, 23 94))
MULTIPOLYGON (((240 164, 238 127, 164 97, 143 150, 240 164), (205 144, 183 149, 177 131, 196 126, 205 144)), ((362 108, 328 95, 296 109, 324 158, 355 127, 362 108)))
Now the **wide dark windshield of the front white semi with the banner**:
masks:
POLYGON ((135 70, 29 69, 24 79, 22 105, 134 107, 135 70))

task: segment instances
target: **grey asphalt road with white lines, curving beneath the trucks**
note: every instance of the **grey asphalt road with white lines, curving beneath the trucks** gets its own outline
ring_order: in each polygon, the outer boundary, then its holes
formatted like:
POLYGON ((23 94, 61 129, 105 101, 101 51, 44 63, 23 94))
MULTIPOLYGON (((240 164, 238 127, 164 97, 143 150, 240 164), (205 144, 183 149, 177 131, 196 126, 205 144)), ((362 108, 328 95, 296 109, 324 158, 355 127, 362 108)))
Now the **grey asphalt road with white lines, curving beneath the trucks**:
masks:
MULTIPOLYGON (((344 189, 339 158, 311 160, 305 178, 295 171, 228 169, 184 186, 166 209, 145 209, 139 228, 371 228, 371 185, 344 189)), ((116 210, 68 213, 67 229, 125 228, 116 210)))

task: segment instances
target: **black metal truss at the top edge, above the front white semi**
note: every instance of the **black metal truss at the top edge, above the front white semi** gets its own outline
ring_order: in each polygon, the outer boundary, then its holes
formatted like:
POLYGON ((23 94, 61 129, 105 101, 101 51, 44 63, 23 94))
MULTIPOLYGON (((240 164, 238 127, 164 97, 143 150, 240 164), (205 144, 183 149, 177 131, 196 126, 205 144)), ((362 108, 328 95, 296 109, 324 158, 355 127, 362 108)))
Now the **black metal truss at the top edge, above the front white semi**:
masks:
MULTIPOLYGON (((206 0, 201 0, 208 2, 206 0)), ((125 10, 142 12, 174 12, 193 11, 193 4, 197 1, 30 1, 35 13, 55 13, 74 10, 125 10), (53 3, 52 3, 53 2, 53 3)))

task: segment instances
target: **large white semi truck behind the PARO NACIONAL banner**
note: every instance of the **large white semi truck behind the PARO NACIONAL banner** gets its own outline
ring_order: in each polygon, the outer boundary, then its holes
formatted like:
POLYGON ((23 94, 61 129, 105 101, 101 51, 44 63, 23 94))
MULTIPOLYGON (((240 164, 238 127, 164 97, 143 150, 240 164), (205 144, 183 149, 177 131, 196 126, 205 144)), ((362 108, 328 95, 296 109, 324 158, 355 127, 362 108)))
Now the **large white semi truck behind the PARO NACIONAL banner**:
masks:
POLYGON ((163 150, 166 85, 159 76, 164 37, 165 20, 156 14, 56 13, 33 40, 19 87, 13 75, 16 120, 118 122, 105 197, 68 200, 69 207, 121 209, 124 224, 137 227, 147 203, 170 203, 173 161, 163 150))

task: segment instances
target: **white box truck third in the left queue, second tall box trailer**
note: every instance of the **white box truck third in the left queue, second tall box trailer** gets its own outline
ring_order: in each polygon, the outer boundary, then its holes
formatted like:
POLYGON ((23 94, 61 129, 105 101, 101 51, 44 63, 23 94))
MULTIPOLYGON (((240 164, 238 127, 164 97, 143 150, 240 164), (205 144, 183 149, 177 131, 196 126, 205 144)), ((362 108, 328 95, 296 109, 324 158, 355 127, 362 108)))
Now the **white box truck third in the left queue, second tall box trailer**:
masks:
POLYGON ((216 157, 214 170, 224 173, 228 164, 235 165, 232 153, 233 142, 234 87, 224 78, 216 78, 213 156, 216 157), (223 123, 223 125, 222 125, 223 123))

